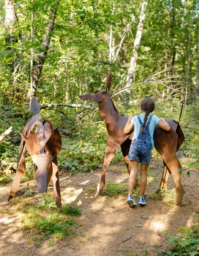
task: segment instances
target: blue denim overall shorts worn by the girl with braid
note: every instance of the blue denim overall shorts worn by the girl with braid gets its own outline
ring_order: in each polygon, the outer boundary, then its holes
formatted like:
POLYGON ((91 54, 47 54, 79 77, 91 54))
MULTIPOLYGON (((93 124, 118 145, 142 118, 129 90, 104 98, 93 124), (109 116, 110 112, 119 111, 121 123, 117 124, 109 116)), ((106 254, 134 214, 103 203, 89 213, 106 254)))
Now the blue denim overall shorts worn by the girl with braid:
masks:
MULTIPOLYGON (((138 115, 137 117, 140 122, 140 130, 141 130, 143 123, 140 119, 140 116, 138 115)), ((140 131, 138 137, 131 141, 130 150, 129 150, 129 160, 136 160, 140 162, 140 164, 151 163, 152 143, 150 139, 149 125, 152 117, 153 116, 150 115, 147 124, 144 126, 145 133, 142 133, 140 131)))

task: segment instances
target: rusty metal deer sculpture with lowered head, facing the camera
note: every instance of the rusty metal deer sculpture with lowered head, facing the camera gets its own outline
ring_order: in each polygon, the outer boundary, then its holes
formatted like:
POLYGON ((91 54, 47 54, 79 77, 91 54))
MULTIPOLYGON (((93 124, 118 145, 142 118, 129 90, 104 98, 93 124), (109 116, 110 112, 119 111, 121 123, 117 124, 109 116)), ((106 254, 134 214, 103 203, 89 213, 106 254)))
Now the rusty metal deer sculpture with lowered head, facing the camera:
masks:
POLYGON ((21 144, 17 159, 17 172, 12 184, 8 201, 15 196, 19 189, 22 175, 26 172, 25 153, 26 150, 31 155, 37 170, 34 175, 37 182, 38 192, 45 193, 52 177, 54 184, 53 199, 58 210, 61 210, 61 196, 59 187, 59 173, 57 154, 61 150, 61 137, 56 128, 49 120, 43 119, 39 114, 40 106, 35 97, 31 102, 31 111, 34 116, 27 122, 23 134, 21 134, 21 144), (42 122, 40 121, 42 119, 42 122), (35 133, 32 131, 36 125, 35 133))

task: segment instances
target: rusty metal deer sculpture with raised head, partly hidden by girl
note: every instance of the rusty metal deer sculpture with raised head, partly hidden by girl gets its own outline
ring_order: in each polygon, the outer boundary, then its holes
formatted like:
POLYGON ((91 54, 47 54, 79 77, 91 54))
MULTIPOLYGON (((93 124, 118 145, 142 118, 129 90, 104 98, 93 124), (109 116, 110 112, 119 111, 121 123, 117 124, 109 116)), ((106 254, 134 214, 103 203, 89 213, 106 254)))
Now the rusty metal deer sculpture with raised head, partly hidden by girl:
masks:
MULTIPOLYGON (((115 156, 116 149, 119 146, 121 146, 126 168, 130 173, 130 161, 128 160, 128 154, 131 140, 133 137, 134 127, 128 135, 124 134, 123 131, 128 117, 120 116, 116 110, 115 105, 113 104, 113 101, 109 94, 109 90, 111 87, 111 77, 112 73, 110 71, 107 79, 106 89, 99 90, 90 94, 79 95, 79 98, 81 100, 98 102, 99 112, 104 120, 108 132, 108 141, 104 158, 99 195, 102 194, 103 188, 105 186, 105 173, 107 167, 110 164, 112 158, 115 156)), ((155 127, 154 130, 154 147, 162 156, 164 164, 160 188, 167 187, 168 177, 172 173, 176 189, 175 204, 179 204, 182 202, 183 194, 185 192, 181 184, 181 172, 178 172, 178 169, 181 168, 181 164, 178 161, 176 152, 184 141, 184 135, 179 125, 179 122, 176 122, 174 120, 166 121, 171 127, 170 131, 164 131, 158 125, 155 127)), ((136 178, 135 189, 139 189, 138 178, 136 178)))

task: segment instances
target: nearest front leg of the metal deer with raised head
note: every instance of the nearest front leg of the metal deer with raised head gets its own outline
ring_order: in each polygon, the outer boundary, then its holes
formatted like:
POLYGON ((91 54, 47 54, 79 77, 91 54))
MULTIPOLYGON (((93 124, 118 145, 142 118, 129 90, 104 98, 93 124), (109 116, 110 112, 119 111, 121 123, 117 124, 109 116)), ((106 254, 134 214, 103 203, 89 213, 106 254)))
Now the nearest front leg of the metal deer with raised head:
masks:
POLYGON ((104 157, 102 177, 101 177, 100 188, 99 188, 99 196, 102 195, 102 192, 105 186, 105 174, 106 174, 107 167, 109 166, 111 160, 115 156, 116 149, 118 148, 118 146, 119 145, 115 145, 115 142, 113 140, 108 138, 107 149, 104 157))

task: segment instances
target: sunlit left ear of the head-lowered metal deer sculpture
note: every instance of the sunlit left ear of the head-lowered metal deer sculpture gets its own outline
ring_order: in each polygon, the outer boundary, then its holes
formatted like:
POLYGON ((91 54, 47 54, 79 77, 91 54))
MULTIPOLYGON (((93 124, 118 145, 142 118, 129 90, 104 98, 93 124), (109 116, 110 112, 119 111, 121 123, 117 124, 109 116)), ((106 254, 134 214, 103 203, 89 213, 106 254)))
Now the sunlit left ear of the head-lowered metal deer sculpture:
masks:
POLYGON ((21 137, 26 141, 26 150, 31 156, 36 155, 41 150, 39 139, 33 131, 29 133, 29 136, 21 134, 21 137))

